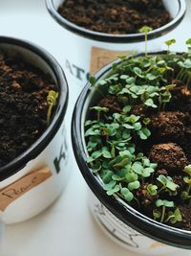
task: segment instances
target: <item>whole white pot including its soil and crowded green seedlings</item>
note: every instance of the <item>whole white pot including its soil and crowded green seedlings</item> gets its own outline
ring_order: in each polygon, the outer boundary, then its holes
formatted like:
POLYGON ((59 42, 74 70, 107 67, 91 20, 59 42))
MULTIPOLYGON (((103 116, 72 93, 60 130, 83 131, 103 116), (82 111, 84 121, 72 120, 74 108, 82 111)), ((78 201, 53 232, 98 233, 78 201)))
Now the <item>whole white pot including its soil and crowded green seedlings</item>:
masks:
POLYGON ((133 251, 190 249, 191 54, 123 58, 90 81, 72 136, 96 221, 133 251))

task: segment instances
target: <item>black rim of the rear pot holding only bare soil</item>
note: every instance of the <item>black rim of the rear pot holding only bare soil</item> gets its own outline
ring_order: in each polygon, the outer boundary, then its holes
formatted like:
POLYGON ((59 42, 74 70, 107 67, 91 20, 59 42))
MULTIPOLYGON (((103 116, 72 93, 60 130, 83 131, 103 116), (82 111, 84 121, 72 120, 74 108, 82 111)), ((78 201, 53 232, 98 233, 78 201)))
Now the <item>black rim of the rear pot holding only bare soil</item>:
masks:
MULTIPOLYGON (((186 4, 185 0, 178 0, 180 10, 177 14, 177 16, 167 23, 166 25, 160 27, 159 29, 153 30, 152 32, 148 33, 148 39, 153 39, 156 37, 159 37, 161 35, 164 35, 174 28, 176 28, 180 21, 183 19, 184 14, 186 12, 186 4)), ((111 35, 106 33, 99 33, 90 31, 87 29, 84 29, 82 27, 79 27, 75 25, 74 23, 70 22, 69 20, 62 17, 57 10, 54 8, 53 0, 46 0, 46 5, 48 11, 51 13, 53 18, 64 28, 67 30, 74 32, 77 35, 82 35, 88 38, 91 38, 93 40, 98 41, 105 41, 105 42, 115 42, 115 43, 128 43, 128 42, 138 42, 138 41, 144 41, 144 34, 137 33, 137 34, 129 34, 129 35, 111 35)))

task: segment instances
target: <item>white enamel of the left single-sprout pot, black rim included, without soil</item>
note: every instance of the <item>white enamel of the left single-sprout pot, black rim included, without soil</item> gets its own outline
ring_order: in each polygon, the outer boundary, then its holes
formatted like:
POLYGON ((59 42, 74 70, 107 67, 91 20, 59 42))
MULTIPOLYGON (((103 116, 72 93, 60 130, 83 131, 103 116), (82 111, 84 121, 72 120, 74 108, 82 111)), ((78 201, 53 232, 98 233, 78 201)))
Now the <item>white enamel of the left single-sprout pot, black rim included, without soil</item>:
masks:
POLYGON ((59 97, 50 126, 27 150, 0 168, 0 220, 26 221, 50 206, 68 179, 68 147, 64 117, 68 85, 56 60, 30 42, 0 36, 0 50, 20 55, 48 74, 59 97))

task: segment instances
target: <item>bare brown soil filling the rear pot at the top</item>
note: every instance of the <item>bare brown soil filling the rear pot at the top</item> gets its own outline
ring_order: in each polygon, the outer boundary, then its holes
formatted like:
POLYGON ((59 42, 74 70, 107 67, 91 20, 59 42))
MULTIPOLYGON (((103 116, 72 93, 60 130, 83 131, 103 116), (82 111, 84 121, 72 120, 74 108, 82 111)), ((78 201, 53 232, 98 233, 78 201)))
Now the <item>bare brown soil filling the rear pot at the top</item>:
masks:
POLYGON ((80 27, 115 35, 157 29, 171 20, 161 0, 66 0, 58 12, 80 27))

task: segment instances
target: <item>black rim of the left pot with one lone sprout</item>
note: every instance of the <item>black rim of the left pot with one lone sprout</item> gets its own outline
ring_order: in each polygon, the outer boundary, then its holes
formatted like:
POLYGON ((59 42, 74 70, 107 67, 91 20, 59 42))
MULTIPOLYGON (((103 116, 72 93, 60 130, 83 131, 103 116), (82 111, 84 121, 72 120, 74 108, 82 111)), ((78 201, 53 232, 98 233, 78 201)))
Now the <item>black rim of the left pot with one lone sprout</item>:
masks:
MULTIPOLYGON (((43 48, 21 39, 14 37, 0 36, 0 45, 19 46, 36 54, 43 59, 53 71, 56 80, 56 86, 59 92, 58 104, 53 115, 50 126, 43 132, 43 134, 32 144, 27 150, 15 157, 9 164, 0 168, 0 181, 16 174, 23 169, 26 164, 34 159, 41 151, 43 151, 53 139, 55 133, 60 128, 68 105, 68 83, 65 74, 58 64, 58 62, 43 48)), ((35 65, 34 65, 35 66, 35 65)))

